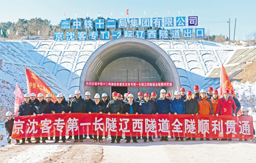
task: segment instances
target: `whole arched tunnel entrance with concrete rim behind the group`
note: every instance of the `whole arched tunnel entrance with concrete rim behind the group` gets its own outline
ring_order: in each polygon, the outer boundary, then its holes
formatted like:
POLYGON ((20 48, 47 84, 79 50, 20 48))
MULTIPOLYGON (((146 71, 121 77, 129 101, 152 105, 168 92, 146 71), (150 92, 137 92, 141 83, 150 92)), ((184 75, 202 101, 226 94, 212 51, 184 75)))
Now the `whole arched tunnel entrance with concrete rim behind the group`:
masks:
MULTIPOLYGON (((180 87, 177 69, 167 53, 156 44, 139 38, 120 38, 101 45, 83 67, 79 84, 81 95, 90 91, 92 96, 101 92, 111 96, 111 87, 84 86, 87 81, 173 82, 173 87, 163 87, 171 94, 180 87)), ((129 87, 128 92, 129 89, 136 97, 139 91, 151 93, 152 90, 159 96, 162 88, 129 87)))

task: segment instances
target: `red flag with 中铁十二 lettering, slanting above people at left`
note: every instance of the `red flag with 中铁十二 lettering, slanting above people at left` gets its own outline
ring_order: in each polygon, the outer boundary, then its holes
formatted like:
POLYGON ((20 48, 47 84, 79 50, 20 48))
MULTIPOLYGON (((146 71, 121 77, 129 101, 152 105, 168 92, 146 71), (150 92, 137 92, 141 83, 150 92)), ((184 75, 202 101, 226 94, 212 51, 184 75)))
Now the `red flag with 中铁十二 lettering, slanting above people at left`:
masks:
MULTIPOLYGON (((25 67, 26 68, 26 67, 25 67)), ((55 95, 52 93, 51 89, 43 82, 36 74, 34 74, 32 71, 28 70, 26 68, 26 77, 27 77, 27 87, 28 87, 28 93, 35 93, 36 95, 38 93, 44 94, 44 97, 46 97, 47 94, 51 94, 52 101, 56 102, 57 99, 55 95)))

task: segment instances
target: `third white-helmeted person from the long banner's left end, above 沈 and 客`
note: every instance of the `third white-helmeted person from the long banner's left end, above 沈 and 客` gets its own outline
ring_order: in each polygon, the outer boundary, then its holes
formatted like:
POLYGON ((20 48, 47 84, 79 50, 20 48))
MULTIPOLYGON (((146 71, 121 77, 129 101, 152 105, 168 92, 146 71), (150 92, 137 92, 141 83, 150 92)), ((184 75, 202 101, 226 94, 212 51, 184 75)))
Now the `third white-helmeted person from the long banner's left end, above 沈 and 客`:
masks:
MULTIPOLYGON (((42 93, 38 93, 37 95, 38 101, 35 102, 35 110, 33 111, 34 115, 43 115, 50 113, 49 104, 44 100, 44 95, 42 93)), ((40 138, 36 138, 35 144, 40 143, 40 138)), ((42 137, 42 143, 46 143, 46 138, 42 137)))

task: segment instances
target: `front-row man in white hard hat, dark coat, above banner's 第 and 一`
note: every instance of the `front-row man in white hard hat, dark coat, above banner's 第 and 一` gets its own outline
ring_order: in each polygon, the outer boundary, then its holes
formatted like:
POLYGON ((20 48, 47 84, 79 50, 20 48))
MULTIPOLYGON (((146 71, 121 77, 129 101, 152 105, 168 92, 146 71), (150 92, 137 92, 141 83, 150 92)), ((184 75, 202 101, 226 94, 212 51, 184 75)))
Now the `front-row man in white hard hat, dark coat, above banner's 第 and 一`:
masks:
MULTIPOLYGON (((70 104, 70 112, 69 113, 86 113, 86 102, 81 97, 81 92, 79 90, 75 90, 76 98, 72 100, 70 104)), ((74 143, 78 142, 78 135, 74 136, 74 143)), ((83 142, 82 134, 79 135, 80 142, 83 142)))

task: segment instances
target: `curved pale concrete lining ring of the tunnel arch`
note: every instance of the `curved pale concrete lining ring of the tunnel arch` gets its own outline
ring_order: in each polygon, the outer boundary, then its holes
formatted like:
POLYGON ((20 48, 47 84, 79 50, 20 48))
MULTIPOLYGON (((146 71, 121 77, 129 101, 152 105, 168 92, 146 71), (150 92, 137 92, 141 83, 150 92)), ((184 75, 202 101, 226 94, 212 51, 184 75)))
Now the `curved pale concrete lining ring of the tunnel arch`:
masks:
POLYGON ((104 68, 123 57, 138 57, 150 63, 159 76, 162 75, 161 82, 173 82, 173 87, 164 87, 166 91, 173 94, 177 86, 180 87, 176 66, 162 48, 144 39, 120 38, 101 45, 92 53, 81 72, 79 83, 81 96, 84 97, 86 91, 90 91, 94 96, 97 93, 97 87, 84 86, 85 82, 99 81, 98 76, 100 77, 104 68))

